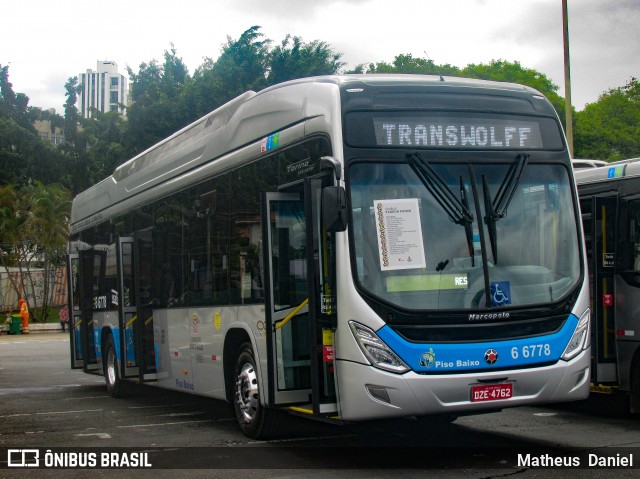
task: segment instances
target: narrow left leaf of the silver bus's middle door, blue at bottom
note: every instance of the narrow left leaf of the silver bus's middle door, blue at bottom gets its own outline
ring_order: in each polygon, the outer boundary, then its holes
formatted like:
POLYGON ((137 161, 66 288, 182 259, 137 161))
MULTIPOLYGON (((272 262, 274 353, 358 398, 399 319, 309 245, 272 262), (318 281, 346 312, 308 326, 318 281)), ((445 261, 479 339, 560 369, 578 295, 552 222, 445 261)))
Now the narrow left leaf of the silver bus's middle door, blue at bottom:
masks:
POLYGON ((136 308, 136 289, 134 274, 134 239, 118 238, 118 296, 119 296, 119 329, 120 329, 120 371, 123 378, 134 378, 139 375, 136 358, 138 320, 136 308))

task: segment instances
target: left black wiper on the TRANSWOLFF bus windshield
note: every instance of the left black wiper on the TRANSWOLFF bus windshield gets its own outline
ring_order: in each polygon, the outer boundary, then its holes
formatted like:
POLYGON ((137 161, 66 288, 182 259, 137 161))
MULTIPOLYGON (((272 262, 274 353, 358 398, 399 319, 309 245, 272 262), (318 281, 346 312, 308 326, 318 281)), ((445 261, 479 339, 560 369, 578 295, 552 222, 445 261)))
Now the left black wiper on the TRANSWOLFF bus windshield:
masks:
POLYGON ((473 257, 473 230, 471 228, 473 214, 469 210, 469 201, 467 200, 467 192, 464 188, 462 177, 460 177, 460 199, 458 199, 422 155, 419 153, 408 153, 407 159, 420 181, 422 181, 429 193, 435 198, 447 216, 449 216, 449 219, 455 224, 464 226, 469 256, 471 257, 471 265, 475 266, 473 257))

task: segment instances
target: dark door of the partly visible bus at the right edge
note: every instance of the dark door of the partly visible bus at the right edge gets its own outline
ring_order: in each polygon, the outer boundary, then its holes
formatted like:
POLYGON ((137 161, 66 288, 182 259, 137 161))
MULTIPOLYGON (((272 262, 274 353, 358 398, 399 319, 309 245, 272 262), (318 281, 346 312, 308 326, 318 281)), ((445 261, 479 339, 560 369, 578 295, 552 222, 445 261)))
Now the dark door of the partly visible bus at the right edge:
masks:
POLYGON ((593 314, 592 381, 603 385, 618 380, 614 307, 617 204, 615 196, 596 196, 582 203, 593 314))

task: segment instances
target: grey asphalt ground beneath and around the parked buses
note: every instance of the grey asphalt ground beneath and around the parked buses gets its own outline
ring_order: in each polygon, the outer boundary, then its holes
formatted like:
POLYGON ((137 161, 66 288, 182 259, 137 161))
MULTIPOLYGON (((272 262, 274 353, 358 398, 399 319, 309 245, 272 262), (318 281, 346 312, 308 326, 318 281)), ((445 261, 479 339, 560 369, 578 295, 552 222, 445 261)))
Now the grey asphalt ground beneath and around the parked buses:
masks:
POLYGON ((135 471, 141 478, 423 477, 428 471, 438 477, 640 477, 640 418, 626 413, 621 396, 508 409, 447 425, 407 419, 335 426, 283 415, 281 437, 253 441, 221 401, 141 385, 113 399, 102 377, 69 368, 68 349, 62 333, 0 336, 0 477, 132 472, 8 469, 8 448, 144 450, 154 470, 135 471), (587 467, 589 454, 616 453, 631 455, 634 467, 587 467), (545 467, 558 457, 582 467, 545 467))

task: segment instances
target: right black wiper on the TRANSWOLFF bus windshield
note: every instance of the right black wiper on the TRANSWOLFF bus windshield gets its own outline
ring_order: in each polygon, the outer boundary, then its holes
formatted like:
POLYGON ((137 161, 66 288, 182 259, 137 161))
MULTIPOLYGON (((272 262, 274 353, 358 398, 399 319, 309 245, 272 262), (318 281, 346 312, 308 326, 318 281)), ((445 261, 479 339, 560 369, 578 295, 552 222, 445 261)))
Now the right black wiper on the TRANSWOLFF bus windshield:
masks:
POLYGON ((492 200, 491 193, 489 191, 489 185, 487 184, 487 177, 482 175, 482 190, 484 193, 484 205, 486 215, 484 222, 489 230, 489 242, 491 243, 491 252, 493 253, 493 262, 498 264, 498 238, 496 231, 496 222, 507 216, 507 208, 513 199, 513 195, 516 192, 516 187, 522 176, 525 166, 529 161, 529 155, 520 154, 516 156, 516 163, 514 163, 507 175, 502 180, 500 188, 496 197, 492 200))

